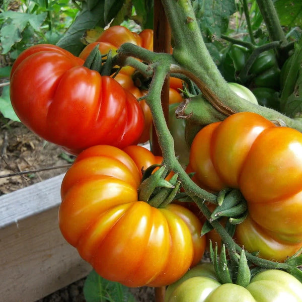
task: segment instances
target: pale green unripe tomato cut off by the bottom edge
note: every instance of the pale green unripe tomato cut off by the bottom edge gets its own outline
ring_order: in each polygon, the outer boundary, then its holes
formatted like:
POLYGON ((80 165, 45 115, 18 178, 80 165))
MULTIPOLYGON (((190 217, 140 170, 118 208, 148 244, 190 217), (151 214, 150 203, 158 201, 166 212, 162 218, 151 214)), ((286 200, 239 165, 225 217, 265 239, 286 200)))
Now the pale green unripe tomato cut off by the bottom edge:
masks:
POLYGON ((277 269, 257 273, 247 287, 220 284, 212 264, 203 263, 168 286, 165 302, 279 302, 302 301, 302 284, 277 269))

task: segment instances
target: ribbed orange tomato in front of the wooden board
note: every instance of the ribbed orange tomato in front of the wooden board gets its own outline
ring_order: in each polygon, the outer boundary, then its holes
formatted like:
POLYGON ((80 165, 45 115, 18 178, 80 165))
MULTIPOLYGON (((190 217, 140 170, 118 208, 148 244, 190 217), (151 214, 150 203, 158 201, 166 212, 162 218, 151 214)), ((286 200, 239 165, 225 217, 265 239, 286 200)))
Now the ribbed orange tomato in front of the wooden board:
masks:
MULTIPOLYGON (((102 277, 130 287, 167 285, 201 259, 202 225, 180 205, 139 201, 145 162, 137 154, 150 152, 140 146, 126 151, 130 155, 98 145, 77 157, 61 186, 60 230, 102 277)), ((148 158, 153 164, 153 155, 148 158)))

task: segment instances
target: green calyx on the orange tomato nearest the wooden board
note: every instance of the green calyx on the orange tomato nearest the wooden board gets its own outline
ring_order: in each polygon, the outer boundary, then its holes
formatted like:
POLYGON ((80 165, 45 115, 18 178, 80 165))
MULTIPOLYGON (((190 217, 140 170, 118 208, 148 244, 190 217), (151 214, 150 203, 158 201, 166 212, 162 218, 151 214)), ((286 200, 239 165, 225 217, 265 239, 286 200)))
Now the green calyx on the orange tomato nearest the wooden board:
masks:
POLYGON ((169 181, 166 180, 168 174, 166 166, 153 165, 146 169, 138 188, 138 199, 157 208, 171 203, 180 189, 180 182, 178 174, 174 174, 169 181))

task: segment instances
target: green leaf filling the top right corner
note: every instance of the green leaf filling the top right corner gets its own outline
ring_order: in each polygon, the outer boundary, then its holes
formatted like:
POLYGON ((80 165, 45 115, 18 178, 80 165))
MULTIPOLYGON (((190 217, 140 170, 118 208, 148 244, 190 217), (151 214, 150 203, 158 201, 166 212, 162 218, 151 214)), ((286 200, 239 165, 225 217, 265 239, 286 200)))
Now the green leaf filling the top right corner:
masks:
POLYGON ((302 27, 302 1, 277 0, 274 2, 281 25, 302 27))

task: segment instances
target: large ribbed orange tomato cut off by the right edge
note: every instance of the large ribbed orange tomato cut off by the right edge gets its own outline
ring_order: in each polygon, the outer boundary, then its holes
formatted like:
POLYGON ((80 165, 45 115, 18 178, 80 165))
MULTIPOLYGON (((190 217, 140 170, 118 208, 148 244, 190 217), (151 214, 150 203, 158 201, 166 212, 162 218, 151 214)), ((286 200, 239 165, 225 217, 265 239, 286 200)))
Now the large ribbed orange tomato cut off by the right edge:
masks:
MULTIPOLYGON (((242 112, 222 122, 207 125, 195 136, 190 150, 190 166, 201 186, 218 192, 240 189, 248 204, 250 219, 266 237, 284 246, 283 254, 267 248, 251 226, 239 225, 241 245, 260 250, 274 260, 291 256, 302 246, 302 134, 277 127, 262 116, 242 112), (283 257, 285 256, 285 257, 283 257)), ((247 222, 246 222, 247 223, 247 222)), ((280 250, 280 249, 279 249, 280 250)))

